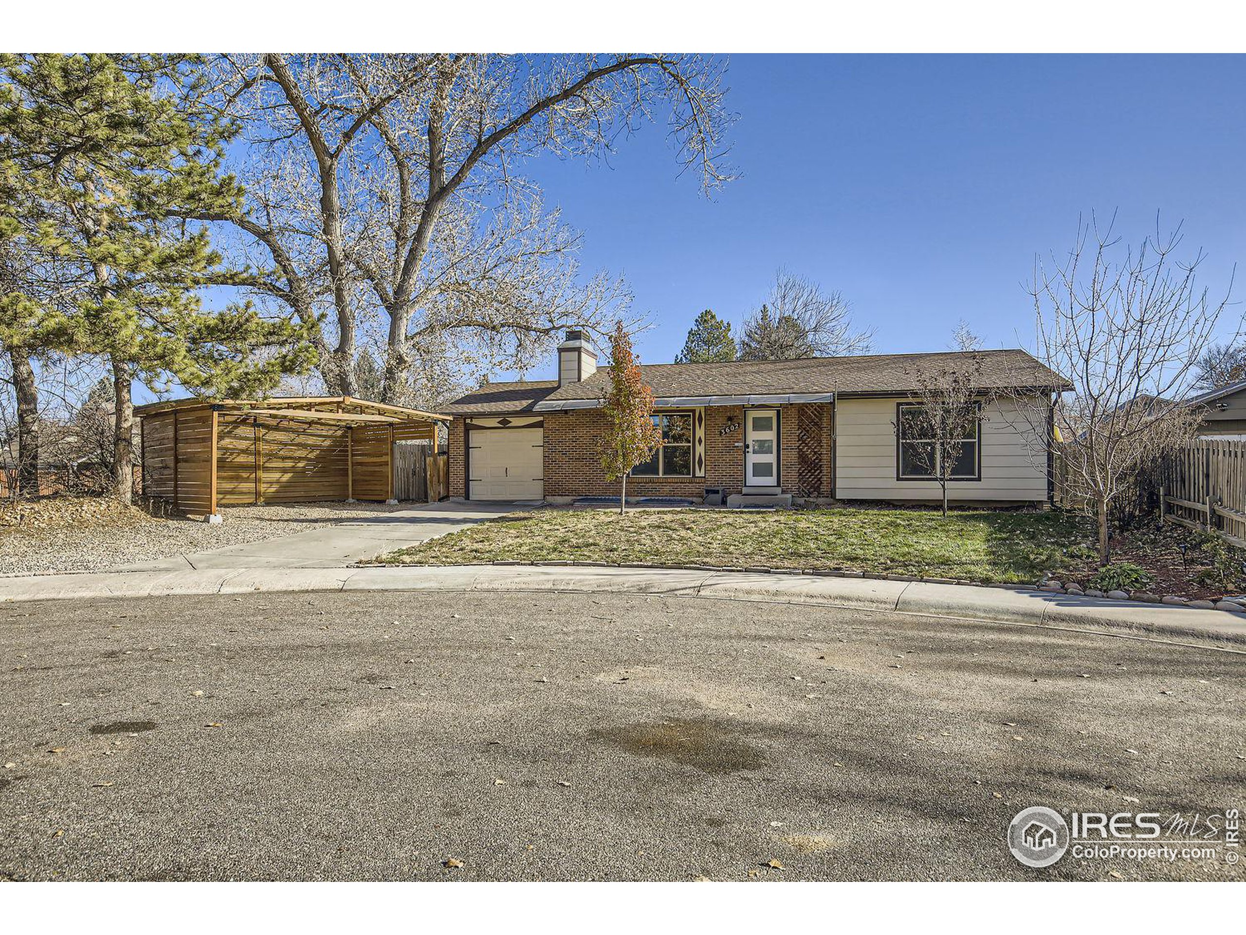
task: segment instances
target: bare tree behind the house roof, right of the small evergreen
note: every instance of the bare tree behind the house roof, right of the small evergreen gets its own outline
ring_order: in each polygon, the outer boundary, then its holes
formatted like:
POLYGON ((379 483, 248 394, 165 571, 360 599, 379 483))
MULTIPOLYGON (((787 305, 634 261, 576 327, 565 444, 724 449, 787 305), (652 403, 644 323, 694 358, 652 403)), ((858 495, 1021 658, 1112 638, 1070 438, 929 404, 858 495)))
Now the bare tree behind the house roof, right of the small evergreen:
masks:
POLYGON ((873 332, 855 330, 850 312, 839 292, 824 292, 812 279, 780 269, 765 303, 744 322, 740 359, 863 354, 873 332))

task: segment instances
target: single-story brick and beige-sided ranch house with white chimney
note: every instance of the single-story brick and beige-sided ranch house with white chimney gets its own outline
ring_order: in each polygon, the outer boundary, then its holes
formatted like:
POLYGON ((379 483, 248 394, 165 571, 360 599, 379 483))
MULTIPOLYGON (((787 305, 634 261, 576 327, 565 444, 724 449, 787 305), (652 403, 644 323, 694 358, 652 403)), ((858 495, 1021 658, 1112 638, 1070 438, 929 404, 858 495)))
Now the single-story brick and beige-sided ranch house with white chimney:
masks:
MULTIPOLYGON (((1050 430, 1030 428, 1033 418, 1022 418, 1015 399, 1038 401, 1049 419, 1053 388, 1068 384, 1023 350, 974 353, 988 401, 966 440, 949 499, 1045 504, 1050 430)), ((903 438, 901 414, 917 405, 915 370, 947 367, 956 355, 644 365, 663 444, 632 470, 628 496, 938 500, 937 481, 912 456, 923 441, 903 438)), ((444 408, 454 416, 451 497, 618 496, 598 455, 607 372, 584 333, 567 332, 557 373, 557 380, 487 384, 444 408)))

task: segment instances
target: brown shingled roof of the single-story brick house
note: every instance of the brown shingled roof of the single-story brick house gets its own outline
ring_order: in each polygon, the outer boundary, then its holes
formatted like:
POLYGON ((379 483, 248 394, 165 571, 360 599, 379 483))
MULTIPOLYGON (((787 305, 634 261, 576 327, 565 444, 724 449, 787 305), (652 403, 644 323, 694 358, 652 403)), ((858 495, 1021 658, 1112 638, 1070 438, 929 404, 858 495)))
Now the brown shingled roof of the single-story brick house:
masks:
MULTIPOLYGON (((835 395, 895 394, 918 389, 916 374, 956 367, 969 352, 862 354, 802 360, 733 360, 713 364, 644 364, 645 383, 659 405, 829 401, 835 395)), ((972 352, 982 389, 1068 389, 1063 379, 1024 350, 972 352)), ((445 406, 456 415, 581 409, 598 404, 607 368, 578 383, 495 383, 445 406)))

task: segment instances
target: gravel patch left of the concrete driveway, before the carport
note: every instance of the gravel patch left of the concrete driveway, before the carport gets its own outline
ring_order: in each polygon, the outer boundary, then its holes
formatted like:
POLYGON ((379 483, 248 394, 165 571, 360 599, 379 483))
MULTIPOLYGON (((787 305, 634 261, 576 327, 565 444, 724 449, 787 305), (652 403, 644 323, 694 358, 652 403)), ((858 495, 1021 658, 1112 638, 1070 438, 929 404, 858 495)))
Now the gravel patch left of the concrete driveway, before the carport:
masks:
POLYGON ((126 522, 26 530, 0 527, 0 575, 101 571, 120 565, 168 559, 338 522, 409 510, 411 504, 282 504, 222 509, 224 522, 181 516, 157 519, 137 510, 126 522))

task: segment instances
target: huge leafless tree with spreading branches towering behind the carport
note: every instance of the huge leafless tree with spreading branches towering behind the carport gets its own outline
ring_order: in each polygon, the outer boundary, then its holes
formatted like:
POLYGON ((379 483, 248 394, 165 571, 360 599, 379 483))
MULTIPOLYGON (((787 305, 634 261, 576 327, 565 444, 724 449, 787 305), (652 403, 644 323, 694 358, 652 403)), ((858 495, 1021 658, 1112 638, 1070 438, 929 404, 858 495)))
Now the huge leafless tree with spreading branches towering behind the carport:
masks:
POLYGON ((568 324, 606 333, 628 294, 582 280, 578 234, 520 175, 526 160, 608 152, 658 108, 705 188, 720 168, 723 65, 667 55, 279 55, 219 60, 240 166, 242 246, 265 289, 318 335, 331 391, 356 391, 361 337, 385 349, 384 399, 431 404, 480 373, 525 370, 568 324))

